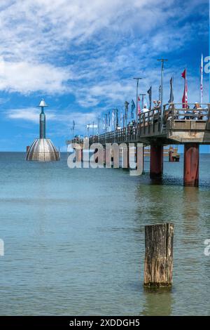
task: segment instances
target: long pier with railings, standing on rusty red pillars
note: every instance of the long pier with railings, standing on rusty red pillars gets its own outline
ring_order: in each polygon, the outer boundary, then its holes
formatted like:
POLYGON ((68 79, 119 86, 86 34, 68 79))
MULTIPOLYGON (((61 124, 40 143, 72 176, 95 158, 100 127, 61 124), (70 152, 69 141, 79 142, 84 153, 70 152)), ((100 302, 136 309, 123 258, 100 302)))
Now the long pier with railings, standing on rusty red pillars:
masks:
MULTIPOLYGON (((199 147, 210 144, 210 104, 199 109, 188 103, 188 109, 181 103, 163 105, 162 111, 153 109, 139 114, 139 122, 115 131, 90 136, 89 143, 143 143, 151 146, 150 176, 162 178, 163 150, 165 145, 184 145, 183 185, 199 185, 199 147)), ((83 139, 66 141, 83 144, 83 139)))

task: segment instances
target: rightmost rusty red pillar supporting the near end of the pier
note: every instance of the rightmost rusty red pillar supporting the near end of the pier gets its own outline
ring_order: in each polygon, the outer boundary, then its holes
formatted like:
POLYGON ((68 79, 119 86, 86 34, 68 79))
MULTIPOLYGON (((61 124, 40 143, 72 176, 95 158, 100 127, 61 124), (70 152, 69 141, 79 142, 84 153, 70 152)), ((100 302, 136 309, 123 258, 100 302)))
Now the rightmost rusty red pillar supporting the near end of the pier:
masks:
POLYGON ((197 187, 199 184, 199 144, 186 143, 184 147, 183 184, 197 187))

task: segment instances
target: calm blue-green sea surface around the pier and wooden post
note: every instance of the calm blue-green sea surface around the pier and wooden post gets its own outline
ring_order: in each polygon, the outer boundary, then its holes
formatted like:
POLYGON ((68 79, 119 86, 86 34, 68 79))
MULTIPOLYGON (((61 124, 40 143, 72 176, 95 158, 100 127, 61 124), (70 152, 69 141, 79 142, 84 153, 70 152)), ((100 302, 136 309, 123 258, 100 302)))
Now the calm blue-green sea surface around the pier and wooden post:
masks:
POLYGON ((210 315, 210 156, 162 185, 123 169, 69 169, 0 153, 0 315, 210 315), (144 225, 171 221, 172 291, 144 290, 144 225))

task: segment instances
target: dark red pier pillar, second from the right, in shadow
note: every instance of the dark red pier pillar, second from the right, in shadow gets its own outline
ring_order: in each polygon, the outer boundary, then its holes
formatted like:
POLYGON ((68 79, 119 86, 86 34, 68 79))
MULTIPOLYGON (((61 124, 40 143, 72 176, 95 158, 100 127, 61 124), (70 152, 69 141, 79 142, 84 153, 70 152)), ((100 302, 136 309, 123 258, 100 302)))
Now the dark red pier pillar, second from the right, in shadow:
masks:
POLYGON ((151 145, 151 171, 152 179, 162 178, 163 145, 151 145))

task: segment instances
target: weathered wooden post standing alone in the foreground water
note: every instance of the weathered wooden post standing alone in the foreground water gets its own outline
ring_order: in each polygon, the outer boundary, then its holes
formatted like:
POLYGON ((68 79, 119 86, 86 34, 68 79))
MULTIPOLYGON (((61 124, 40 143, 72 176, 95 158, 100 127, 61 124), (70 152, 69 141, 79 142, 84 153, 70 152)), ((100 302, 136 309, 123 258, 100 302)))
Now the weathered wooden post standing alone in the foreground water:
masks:
POLYGON ((171 286, 174 225, 145 226, 144 286, 171 286))

